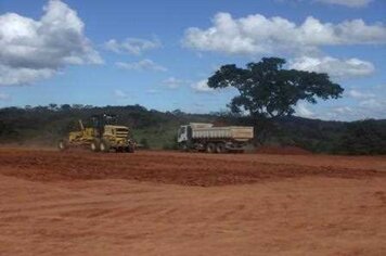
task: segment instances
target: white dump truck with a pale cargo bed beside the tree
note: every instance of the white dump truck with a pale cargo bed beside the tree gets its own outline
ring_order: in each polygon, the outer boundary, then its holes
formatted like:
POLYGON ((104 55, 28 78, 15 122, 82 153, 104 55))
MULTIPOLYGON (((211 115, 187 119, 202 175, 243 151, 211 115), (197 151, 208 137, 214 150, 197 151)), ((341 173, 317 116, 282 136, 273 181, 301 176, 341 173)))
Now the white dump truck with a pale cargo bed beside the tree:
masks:
POLYGON ((226 126, 190 123, 178 130, 181 150, 205 151, 207 153, 244 152, 245 145, 254 138, 254 127, 226 126))

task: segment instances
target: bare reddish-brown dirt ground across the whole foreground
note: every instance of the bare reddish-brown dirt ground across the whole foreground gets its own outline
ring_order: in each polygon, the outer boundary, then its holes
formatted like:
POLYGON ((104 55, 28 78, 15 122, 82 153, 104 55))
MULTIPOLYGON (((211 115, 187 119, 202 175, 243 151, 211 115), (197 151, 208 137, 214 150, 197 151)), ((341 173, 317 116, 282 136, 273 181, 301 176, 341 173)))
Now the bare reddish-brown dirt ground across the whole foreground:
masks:
POLYGON ((0 149, 0 255, 386 255, 386 157, 0 149))

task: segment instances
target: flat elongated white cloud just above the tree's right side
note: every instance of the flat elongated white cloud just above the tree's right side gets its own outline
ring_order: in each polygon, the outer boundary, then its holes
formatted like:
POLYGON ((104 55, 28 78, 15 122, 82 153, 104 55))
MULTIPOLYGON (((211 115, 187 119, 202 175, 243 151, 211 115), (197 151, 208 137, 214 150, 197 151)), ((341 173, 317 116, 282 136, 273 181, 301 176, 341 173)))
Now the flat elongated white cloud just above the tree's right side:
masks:
POLYGON ((290 68, 327 73, 331 77, 339 79, 369 76, 375 72, 375 67, 371 62, 358 59, 338 60, 331 56, 297 57, 290 62, 290 68))

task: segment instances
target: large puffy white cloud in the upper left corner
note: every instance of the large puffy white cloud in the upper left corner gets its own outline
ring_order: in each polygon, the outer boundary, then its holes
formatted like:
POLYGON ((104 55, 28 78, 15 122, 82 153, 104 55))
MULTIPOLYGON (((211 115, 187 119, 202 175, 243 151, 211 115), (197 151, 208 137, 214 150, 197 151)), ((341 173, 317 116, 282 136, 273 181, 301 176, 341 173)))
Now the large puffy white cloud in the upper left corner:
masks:
POLYGON ((38 21, 16 13, 0 15, 0 85, 27 85, 66 65, 103 62, 76 11, 60 0, 49 1, 43 10, 38 21))

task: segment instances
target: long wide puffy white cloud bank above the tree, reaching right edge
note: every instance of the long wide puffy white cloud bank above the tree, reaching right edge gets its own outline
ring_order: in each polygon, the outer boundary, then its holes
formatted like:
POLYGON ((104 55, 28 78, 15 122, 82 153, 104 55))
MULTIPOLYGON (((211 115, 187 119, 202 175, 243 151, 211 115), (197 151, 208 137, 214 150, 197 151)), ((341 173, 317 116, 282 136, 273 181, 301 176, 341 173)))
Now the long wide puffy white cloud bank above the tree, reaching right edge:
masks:
POLYGON ((227 54, 298 54, 319 52, 322 46, 383 44, 386 27, 381 23, 368 25, 362 20, 333 24, 309 16, 296 25, 280 16, 255 14, 233 18, 229 13, 218 13, 211 27, 188 28, 183 43, 200 51, 227 54))

